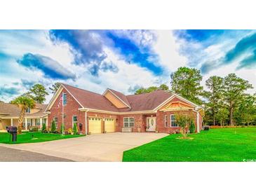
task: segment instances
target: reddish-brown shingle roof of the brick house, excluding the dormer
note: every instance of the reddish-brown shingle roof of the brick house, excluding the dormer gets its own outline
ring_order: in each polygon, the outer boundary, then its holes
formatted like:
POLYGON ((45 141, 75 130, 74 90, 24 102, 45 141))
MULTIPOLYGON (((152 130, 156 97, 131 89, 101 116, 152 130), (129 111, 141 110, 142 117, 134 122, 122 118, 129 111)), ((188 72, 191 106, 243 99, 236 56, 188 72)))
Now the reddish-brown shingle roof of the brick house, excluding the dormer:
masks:
MULTIPOLYGON (((84 108, 98 109, 113 112, 147 111, 153 110, 166 101, 172 94, 164 90, 144 93, 141 95, 123 95, 121 92, 112 90, 130 108, 117 109, 107 98, 96 92, 90 92, 71 85, 62 84, 81 103, 84 108)), ((110 90, 110 89, 109 89, 110 90)))

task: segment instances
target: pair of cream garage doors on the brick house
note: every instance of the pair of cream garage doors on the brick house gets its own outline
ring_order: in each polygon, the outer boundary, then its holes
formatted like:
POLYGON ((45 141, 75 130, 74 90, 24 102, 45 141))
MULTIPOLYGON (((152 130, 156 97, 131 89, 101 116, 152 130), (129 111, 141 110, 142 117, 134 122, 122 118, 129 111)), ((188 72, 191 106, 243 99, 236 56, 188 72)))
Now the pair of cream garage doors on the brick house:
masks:
POLYGON ((114 118, 89 118, 89 132, 91 134, 102 132, 115 132, 115 119, 114 118))

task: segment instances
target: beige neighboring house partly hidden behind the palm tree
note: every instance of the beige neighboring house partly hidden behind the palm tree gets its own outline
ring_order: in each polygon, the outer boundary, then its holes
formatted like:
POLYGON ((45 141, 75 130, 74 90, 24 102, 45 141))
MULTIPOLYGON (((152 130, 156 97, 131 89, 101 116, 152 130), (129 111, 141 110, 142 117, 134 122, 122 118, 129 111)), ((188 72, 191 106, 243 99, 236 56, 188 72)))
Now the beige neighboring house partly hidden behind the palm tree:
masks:
MULTIPOLYGON (((46 110, 47 104, 36 104, 33 109, 27 109, 25 119, 23 120, 23 127, 41 128, 43 123, 48 124, 48 116, 43 113, 46 110)), ((0 130, 5 130, 6 126, 17 126, 18 118, 20 116, 20 108, 15 104, 0 102, 0 130)))

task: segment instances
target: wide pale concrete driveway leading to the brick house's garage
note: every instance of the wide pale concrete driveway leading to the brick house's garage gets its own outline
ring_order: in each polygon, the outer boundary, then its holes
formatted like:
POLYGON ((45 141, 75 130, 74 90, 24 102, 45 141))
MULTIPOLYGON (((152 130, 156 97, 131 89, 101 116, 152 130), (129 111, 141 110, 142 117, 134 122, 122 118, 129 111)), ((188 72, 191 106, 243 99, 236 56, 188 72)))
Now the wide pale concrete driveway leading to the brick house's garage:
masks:
POLYGON ((1 144, 74 161, 121 161, 123 151, 167 136, 164 133, 114 132, 33 144, 1 144))

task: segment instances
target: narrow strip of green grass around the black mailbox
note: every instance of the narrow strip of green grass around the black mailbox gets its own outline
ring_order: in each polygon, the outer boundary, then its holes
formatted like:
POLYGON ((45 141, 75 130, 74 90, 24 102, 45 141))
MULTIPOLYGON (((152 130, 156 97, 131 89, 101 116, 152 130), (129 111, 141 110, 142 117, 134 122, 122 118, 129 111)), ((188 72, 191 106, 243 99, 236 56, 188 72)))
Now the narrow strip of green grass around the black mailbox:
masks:
MULTIPOLYGON (((53 141, 53 140, 58 140, 58 139, 68 139, 68 138, 83 137, 83 136, 84 135, 64 135, 64 136, 62 136, 60 134, 51 134, 51 133, 22 132, 21 135, 17 136, 17 142, 15 142, 14 144, 48 142, 48 141, 53 141)), ((13 142, 10 142, 9 139, 10 139, 9 133, 0 132, 0 143, 13 144, 13 142)))

